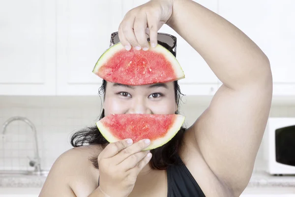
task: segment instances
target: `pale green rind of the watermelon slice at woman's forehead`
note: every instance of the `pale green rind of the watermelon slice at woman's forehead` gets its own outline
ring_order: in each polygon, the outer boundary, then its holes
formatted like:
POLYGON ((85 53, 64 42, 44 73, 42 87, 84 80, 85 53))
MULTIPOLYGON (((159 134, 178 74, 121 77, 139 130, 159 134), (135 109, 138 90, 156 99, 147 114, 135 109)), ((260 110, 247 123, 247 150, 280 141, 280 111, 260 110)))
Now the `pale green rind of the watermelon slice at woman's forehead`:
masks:
MULTIPOLYGON (((150 42, 148 42, 148 43, 150 46, 150 42)), ((110 58, 112 58, 112 56, 116 52, 118 52, 120 50, 126 50, 125 47, 120 42, 118 42, 117 44, 115 44, 115 45, 111 46, 110 48, 108 48, 107 50, 105 50, 105 52, 97 60, 92 72, 99 76, 99 72, 98 72, 99 68, 102 65, 104 65, 110 58)), ((176 74, 175 80, 180 80, 180 79, 185 78, 182 67, 179 65, 179 62, 177 61, 176 57, 168 49, 166 49, 165 47, 163 47, 160 44, 157 44, 157 46, 154 48, 149 47, 149 50, 161 53, 169 60, 169 62, 173 66, 174 72, 176 74)), ((99 77, 101 77, 101 76, 99 76, 99 77)))

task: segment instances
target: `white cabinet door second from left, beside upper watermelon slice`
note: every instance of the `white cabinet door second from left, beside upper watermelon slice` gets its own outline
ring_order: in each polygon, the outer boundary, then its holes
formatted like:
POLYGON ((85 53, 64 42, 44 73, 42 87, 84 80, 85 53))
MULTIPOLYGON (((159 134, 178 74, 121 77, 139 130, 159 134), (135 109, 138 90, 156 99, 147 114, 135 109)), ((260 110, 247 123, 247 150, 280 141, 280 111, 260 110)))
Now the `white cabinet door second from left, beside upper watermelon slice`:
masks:
POLYGON ((119 0, 58 0, 58 95, 97 95, 102 79, 92 69, 121 20, 119 0))

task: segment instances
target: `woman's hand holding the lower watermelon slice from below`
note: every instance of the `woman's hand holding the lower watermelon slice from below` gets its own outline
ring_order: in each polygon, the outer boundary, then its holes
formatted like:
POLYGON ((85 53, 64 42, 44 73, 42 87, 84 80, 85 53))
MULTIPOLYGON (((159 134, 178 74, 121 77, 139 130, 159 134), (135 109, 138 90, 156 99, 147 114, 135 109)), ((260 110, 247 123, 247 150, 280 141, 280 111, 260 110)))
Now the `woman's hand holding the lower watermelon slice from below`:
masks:
POLYGON ((99 188, 106 196, 128 197, 137 175, 151 158, 149 150, 142 151, 149 144, 147 139, 134 144, 132 140, 120 140, 108 144, 98 155, 99 188))

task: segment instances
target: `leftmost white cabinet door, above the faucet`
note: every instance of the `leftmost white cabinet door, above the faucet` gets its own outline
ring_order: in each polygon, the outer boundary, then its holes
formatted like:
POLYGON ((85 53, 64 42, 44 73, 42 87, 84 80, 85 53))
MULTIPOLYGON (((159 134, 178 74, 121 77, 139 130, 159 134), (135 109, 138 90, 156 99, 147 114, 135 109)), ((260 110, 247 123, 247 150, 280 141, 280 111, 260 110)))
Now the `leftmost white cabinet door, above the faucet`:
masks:
POLYGON ((55 94, 55 6, 0 2, 0 95, 55 94))

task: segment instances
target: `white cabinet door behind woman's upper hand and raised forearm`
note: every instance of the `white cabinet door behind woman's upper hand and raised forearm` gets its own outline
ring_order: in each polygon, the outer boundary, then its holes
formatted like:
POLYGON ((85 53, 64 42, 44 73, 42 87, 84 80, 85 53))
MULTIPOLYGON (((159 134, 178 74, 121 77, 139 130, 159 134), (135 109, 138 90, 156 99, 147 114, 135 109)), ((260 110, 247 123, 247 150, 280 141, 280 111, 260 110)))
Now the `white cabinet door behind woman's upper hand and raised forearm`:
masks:
MULTIPOLYGON (((217 0, 195 0, 208 9, 217 12, 217 0)), ((148 0, 123 0, 123 15, 130 9, 148 2, 148 0)), ((205 60, 169 26, 164 24, 158 31, 177 37, 177 60, 185 78, 179 80, 181 92, 185 95, 213 95, 218 88, 218 78, 205 60)))

